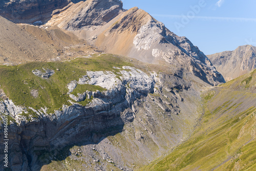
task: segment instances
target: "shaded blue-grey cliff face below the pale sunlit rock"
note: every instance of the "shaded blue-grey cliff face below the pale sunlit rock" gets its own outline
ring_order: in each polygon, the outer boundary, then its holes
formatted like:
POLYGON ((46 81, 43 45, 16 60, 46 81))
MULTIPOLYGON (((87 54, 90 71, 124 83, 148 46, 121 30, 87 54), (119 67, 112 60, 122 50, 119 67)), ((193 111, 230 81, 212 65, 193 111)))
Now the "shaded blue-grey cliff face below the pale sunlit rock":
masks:
POLYGON ((13 130, 13 137, 19 138, 10 140, 10 144, 16 144, 10 149, 11 169, 39 171, 52 161, 65 160, 73 146, 98 144, 108 136, 121 133, 124 124, 133 121, 130 113, 124 112, 127 108, 130 106, 116 108, 114 105, 95 111, 74 104, 65 113, 59 111, 60 116, 55 112, 51 117, 23 123, 23 126, 13 125, 17 129, 13 130), (57 118, 52 119, 54 116, 57 118), (22 163, 13 162, 17 158, 22 163))

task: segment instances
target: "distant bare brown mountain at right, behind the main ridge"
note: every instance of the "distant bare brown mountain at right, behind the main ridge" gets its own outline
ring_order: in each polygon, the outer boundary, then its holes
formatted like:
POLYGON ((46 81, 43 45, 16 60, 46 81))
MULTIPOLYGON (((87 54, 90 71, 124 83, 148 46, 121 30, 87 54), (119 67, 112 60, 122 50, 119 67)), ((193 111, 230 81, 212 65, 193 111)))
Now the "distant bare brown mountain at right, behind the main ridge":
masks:
POLYGON ((234 51, 208 55, 208 58, 226 81, 256 69, 256 47, 251 45, 240 46, 234 51))

